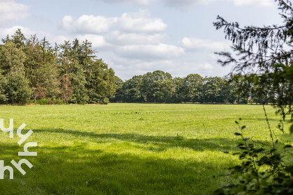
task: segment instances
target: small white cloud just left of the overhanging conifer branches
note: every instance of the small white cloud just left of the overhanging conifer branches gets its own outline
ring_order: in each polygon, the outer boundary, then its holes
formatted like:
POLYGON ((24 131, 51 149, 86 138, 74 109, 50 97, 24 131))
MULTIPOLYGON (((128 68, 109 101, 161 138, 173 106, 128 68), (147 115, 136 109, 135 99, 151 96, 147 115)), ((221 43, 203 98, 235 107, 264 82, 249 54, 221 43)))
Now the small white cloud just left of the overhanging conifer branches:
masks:
POLYGON ((188 51, 196 52, 220 52, 230 48, 230 42, 216 42, 201 38, 183 38, 181 45, 188 51))

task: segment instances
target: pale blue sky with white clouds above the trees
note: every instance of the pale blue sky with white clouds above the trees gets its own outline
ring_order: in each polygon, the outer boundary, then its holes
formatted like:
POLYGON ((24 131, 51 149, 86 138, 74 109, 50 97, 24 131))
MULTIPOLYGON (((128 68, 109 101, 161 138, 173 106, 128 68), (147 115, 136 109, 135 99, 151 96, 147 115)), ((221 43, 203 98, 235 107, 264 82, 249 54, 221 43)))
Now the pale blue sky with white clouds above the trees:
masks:
POLYGON ((21 29, 54 43, 89 40, 121 79, 155 70, 224 77, 214 52, 230 51, 220 15, 241 26, 281 24, 273 0, 0 0, 0 38, 21 29))

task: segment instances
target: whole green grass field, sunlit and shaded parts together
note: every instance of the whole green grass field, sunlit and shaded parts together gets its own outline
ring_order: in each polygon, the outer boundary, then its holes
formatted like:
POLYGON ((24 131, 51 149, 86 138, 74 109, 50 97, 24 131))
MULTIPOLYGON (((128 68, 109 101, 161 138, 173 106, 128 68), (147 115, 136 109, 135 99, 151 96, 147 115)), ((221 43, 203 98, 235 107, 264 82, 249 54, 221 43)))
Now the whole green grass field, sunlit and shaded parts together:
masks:
MULTIPOLYGON (((280 143, 280 120, 266 106, 280 143)), ((222 151, 236 150, 242 118, 245 137, 269 141, 264 111, 259 105, 109 104, 1 106, 5 127, 14 119, 14 138, 0 132, 0 160, 28 159, 26 175, 14 168, 0 180, 1 194, 212 194, 232 180, 220 175, 239 163, 222 151), (37 157, 18 157, 16 130, 33 130, 27 141, 37 157)), ((285 127, 288 124, 285 123, 285 127)))

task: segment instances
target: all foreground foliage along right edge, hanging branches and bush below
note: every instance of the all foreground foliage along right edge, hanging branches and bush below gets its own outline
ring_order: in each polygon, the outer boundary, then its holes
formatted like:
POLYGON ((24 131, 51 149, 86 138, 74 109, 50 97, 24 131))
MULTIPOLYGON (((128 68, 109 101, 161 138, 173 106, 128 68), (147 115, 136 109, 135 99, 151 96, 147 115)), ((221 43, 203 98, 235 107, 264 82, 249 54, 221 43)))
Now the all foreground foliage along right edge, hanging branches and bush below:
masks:
MULTIPOLYGON (((246 95, 257 99, 260 104, 271 102, 283 120, 290 115, 293 121, 293 63, 292 63, 292 24, 293 7, 289 0, 278 1, 278 8, 284 22, 282 25, 272 26, 239 26, 238 22, 227 22, 218 16, 214 22, 216 29, 224 29, 225 38, 232 40, 232 49, 236 57, 230 52, 217 53, 225 57, 218 60, 222 65, 233 63, 233 80, 238 85, 237 95, 246 95), (241 74, 245 73, 244 76, 241 74)), ((238 98, 240 102, 240 98, 238 98)), ((232 167, 230 176, 234 176, 236 184, 218 189, 218 194, 292 194, 293 166, 285 159, 286 150, 292 145, 278 144, 264 109, 266 122, 269 127, 271 144, 260 141, 250 143, 242 133, 243 142, 238 148, 241 152, 234 153, 242 160, 241 165, 232 167), (262 146, 256 146, 260 143, 262 146), (280 148, 286 148, 285 152, 280 148), (225 191, 224 189, 228 189, 225 191)), ((237 124, 239 122, 236 121, 237 124)), ((290 127, 292 133, 293 125, 290 127)), ((244 129, 243 126, 242 129, 244 129)), ((283 121, 278 128, 284 133, 283 121)), ((290 156, 292 158, 292 156, 290 156)))

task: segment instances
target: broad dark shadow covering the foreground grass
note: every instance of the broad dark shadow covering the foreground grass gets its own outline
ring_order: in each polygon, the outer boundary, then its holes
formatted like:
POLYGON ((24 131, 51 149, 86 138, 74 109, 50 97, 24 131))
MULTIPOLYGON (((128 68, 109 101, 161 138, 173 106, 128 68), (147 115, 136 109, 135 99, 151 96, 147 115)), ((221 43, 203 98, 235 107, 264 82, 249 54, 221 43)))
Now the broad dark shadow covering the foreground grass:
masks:
MULTIPOLYGON (((17 150, 14 144, 3 147, 17 150)), ((37 157, 26 158, 31 169, 22 165, 26 175, 14 169, 9 180, 6 172, 1 194, 211 194, 227 182, 213 178, 223 170, 209 162, 107 153, 86 146, 40 146, 37 151, 37 157)), ((7 158, 5 165, 13 166, 7 158)))

